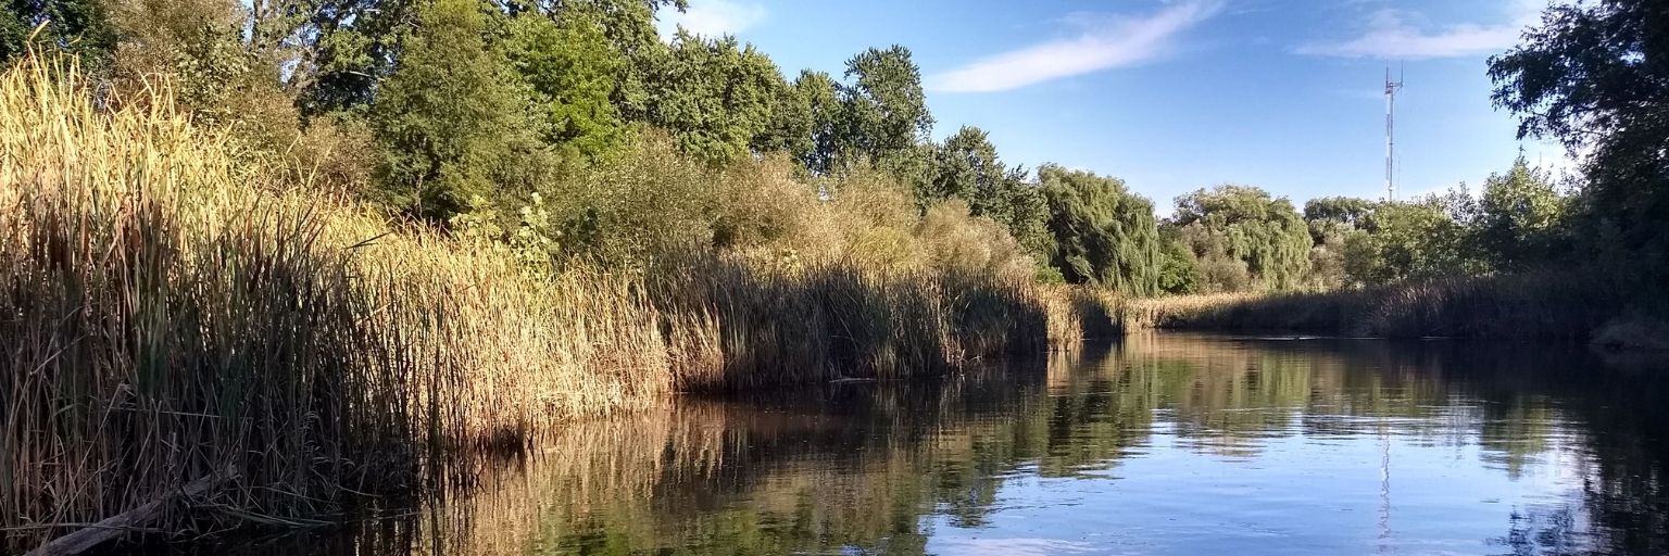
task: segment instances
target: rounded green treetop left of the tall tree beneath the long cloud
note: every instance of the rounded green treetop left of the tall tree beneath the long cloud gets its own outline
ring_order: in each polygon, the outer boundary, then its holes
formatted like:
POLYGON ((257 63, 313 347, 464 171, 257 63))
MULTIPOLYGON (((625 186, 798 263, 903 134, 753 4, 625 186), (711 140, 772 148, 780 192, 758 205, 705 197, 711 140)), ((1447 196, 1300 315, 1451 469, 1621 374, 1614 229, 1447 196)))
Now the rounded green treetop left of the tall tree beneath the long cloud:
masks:
POLYGON ((653 75, 649 122, 673 132, 684 152, 709 162, 749 155, 788 88, 776 63, 753 45, 683 30, 653 75))

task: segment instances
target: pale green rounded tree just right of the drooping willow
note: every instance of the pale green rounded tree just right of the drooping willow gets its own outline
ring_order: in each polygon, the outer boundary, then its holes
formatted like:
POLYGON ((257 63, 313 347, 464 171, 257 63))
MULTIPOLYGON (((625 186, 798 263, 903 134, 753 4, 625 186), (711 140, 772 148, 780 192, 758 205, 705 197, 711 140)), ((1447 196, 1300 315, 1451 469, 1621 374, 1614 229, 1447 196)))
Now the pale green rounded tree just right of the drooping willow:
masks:
POLYGON ((1245 289, 1250 282, 1292 289, 1310 265, 1310 232, 1298 210, 1257 187, 1218 185, 1177 197, 1173 224, 1200 259, 1208 289, 1245 289), (1240 272, 1250 282, 1238 279, 1240 272))

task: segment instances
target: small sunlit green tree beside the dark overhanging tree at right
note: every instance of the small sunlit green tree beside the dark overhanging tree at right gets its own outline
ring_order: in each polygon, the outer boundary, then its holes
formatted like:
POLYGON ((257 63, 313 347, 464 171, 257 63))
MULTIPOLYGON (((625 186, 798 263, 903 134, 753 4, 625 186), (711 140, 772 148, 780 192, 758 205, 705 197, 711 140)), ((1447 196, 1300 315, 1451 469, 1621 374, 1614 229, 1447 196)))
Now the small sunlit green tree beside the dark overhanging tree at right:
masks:
POLYGON ((1545 264, 1567 250, 1567 202, 1547 172, 1520 155, 1507 174, 1484 182, 1479 202, 1477 244, 1497 269, 1522 270, 1545 264))

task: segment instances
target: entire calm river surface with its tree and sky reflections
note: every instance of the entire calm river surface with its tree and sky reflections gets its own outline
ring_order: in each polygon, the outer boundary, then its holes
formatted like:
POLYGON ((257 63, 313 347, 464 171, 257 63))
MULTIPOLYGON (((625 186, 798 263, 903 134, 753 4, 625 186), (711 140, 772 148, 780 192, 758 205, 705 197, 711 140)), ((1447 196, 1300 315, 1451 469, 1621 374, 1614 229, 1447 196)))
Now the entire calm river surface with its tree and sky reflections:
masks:
POLYGON ((582 422, 444 508, 232 551, 1664 554, 1666 396, 1576 347, 1143 336, 582 422))

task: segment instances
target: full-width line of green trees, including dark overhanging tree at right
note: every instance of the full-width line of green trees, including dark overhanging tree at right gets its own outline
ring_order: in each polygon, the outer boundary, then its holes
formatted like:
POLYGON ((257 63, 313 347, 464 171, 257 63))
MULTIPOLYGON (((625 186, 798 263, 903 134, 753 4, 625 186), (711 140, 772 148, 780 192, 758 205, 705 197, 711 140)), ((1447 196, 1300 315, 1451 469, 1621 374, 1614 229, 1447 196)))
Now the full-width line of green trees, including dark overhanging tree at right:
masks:
MULTIPOLYGON (((113 104, 170 75, 174 102, 234 129, 252 154, 294 159, 414 220, 549 252, 608 245, 624 222, 676 227, 688 217, 671 200, 699 204, 679 197, 693 190, 623 180, 696 180, 703 167, 784 159, 821 199, 885 175, 918 219, 956 200, 1008 235, 996 242, 1020 245, 1036 277, 1132 296, 1357 287, 1564 260, 1669 267, 1669 43, 1659 40, 1669 8, 1654 2, 1552 7, 1522 45, 1490 60, 1494 100, 1524 117, 1520 135, 1589 154, 1582 180, 1556 184, 1520 157, 1477 197, 1327 197, 1302 212, 1257 187, 1218 185, 1178 197, 1163 220, 1120 179, 1003 162, 981 129, 935 140, 905 47, 860 52, 838 75, 789 77, 734 37, 661 37, 658 13, 684 7, 5 2, 0 57, 22 55, 33 37, 33 48, 67 52, 107 80, 113 104), (681 160, 646 162, 658 155, 651 144, 681 160), (626 190, 668 202, 631 204, 626 190), (666 214, 628 217, 628 205, 666 214)), ((709 227, 714 242, 753 234, 709 227)))

